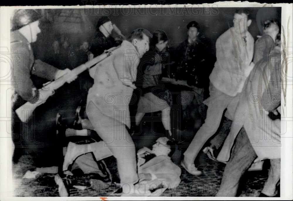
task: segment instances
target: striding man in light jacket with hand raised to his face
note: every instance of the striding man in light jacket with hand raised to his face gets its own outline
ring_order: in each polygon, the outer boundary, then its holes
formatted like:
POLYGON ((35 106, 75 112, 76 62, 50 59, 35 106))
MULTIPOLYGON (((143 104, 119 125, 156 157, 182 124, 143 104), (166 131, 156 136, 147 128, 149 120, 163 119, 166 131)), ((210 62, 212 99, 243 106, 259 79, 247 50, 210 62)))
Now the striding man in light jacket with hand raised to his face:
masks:
MULTIPOLYGON (((226 108, 235 108, 237 95, 253 68, 253 37, 248 32, 251 20, 246 9, 234 14, 234 26, 225 31, 216 42, 217 61, 209 76, 210 97, 204 101, 208 106, 205 123, 195 134, 184 153, 183 167, 193 175, 200 175, 194 160, 205 142, 216 133, 226 108)), ((233 117, 233 109, 229 111, 233 117)))

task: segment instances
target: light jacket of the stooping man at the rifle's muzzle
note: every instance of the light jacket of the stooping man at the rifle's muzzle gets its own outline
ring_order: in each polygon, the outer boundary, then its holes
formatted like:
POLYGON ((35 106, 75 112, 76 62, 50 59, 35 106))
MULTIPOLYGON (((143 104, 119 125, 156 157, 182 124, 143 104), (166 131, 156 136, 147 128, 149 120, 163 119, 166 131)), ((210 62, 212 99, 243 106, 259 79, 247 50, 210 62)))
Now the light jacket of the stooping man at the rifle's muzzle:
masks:
POLYGON ((139 53, 129 41, 123 41, 112 54, 90 69, 94 79, 87 104, 93 102, 101 113, 130 128, 129 103, 139 63, 139 53))

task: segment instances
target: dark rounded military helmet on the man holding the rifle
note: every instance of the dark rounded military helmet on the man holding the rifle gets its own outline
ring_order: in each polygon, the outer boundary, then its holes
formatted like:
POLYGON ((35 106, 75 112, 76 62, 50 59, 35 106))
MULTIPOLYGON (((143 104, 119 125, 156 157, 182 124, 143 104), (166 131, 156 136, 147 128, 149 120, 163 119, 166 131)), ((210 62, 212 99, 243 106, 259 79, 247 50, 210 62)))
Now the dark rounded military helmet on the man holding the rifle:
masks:
POLYGON ((42 18, 42 15, 35 9, 19 9, 12 18, 11 31, 18 30, 40 18, 42 18))

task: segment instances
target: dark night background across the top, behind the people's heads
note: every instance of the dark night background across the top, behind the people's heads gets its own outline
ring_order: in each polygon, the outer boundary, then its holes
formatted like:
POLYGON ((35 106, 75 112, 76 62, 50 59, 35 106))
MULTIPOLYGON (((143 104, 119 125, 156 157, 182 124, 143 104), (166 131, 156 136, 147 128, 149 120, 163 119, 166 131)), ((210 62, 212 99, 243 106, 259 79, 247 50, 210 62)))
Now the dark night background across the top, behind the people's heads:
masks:
MULTIPOLYGON (((109 16, 113 24, 128 36, 131 31, 137 28, 145 28, 151 33, 156 29, 166 31, 169 42, 177 46, 187 37, 186 25, 190 21, 197 21, 200 26, 200 38, 207 43, 212 51, 217 38, 229 27, 233 26, 233 15, 236 8, 127 8, 127 9, 66 9, 68 16, 64 17, 62 10, 47 10, 50 17, 47 17, 42 25, 42 33, 36 42, 36 55, 42 58, 52 42, 64 34, 73 46, 79 46, 82 41, 91 41, 98 19, 109 16), (71 16, 70 16, 71 14, 71 16), (78 16, 79 15, 79 16, 78 16), (73 23, 69 19, 77 19, 73 23), (79 19, 78 19, 79 17, 79 19)), ((277 20, 281 24, 280 7, 248 8, 251 11, 252 24, 249 32, 256 39, 261 35, 262 23, 266 20, 277 20)), ((74 21, 74 20, 73 20, 74 21)))

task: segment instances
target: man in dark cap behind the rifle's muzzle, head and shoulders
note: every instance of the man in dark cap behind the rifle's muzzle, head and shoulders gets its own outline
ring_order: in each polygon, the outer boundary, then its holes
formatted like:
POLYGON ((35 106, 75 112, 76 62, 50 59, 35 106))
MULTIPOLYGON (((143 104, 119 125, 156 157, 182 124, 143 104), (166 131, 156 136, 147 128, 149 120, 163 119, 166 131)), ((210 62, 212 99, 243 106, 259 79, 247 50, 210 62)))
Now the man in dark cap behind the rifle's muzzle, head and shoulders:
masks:
POLYGON ((98 20, 98 24, 96 26, 96 36, 91 41, 90 47, 90 51, 93 53, 94 57, 102 54, 104 50, 108 50, 111 47, 118 45, 115 39, 111 36, 113 29, 111 19, 107 16, 102 16, 98 20))

